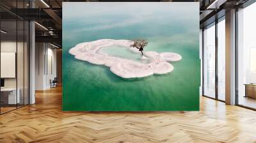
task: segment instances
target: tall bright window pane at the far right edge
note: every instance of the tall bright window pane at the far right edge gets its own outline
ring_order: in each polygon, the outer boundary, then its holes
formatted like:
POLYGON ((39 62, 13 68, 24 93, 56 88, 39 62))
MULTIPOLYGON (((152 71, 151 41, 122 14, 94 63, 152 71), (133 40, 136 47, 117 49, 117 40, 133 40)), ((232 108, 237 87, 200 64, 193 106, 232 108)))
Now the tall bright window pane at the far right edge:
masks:
POLYGON ((238 11, 238 104, 256 109, 256 3, 238 11))

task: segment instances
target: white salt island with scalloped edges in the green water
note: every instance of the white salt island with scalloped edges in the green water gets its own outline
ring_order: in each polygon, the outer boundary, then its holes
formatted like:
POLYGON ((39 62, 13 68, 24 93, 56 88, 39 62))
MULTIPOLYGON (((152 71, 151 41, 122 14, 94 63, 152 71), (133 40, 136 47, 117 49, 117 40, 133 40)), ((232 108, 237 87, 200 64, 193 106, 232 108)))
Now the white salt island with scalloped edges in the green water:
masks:
POLYGON ((113 45, 120 46, 120 48, 127 48, 131 52, 140 54, 138 49, 131 47, 133 43, 134 41, 131 40, 102 39, 79 43, 70 49, 69 53, 81 61, 108 66, 111 72, 125 79, 170 73, 173 71, 173 66, 168 62, 180 61, 182 59, 179 54, 173 52, 158 53, 147 51, 144 54, 144 58, 148 60, 148 63, 140 63, 132 59, 110 56, 100 51, 103 47, 107 48, 113 45))

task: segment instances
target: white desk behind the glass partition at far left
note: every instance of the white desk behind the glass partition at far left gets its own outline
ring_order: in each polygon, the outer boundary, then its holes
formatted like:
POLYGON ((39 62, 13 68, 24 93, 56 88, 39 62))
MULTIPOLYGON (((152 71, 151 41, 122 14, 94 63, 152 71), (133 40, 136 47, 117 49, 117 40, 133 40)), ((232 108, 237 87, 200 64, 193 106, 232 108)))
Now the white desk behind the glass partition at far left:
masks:
POLYGON ((1 89, 1 100, 6 104, 16 104, 20 103, 20 89, 17 89, 17 98, 16 98, 16 88, 3 88, 1 89), (8 99, 8 100, 7 100, 8 99), (7 102, 8 101, 8 102, 7 102))

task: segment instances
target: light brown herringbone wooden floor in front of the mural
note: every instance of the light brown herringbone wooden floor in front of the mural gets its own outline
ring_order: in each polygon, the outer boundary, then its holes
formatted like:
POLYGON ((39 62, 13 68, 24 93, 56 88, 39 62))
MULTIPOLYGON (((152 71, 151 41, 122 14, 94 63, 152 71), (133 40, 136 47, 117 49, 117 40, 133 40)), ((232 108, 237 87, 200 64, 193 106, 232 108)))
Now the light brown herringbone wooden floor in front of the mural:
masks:
POLYGON ((256 112, 202 97, 200 112, 62 112, 61 88, 0 116, 0 142, 256 142, 256 112))

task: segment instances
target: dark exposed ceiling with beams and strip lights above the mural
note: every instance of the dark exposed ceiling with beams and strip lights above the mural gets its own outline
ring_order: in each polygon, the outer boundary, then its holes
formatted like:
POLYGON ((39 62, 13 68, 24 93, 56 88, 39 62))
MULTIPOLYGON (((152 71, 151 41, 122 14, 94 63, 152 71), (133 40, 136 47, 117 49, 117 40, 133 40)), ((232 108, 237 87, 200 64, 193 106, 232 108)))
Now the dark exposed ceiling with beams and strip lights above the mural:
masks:
MULTIPOLYGON (((36 41, 51 42, 61 47, 62 2, 89 2, 106 0, 1 0, 1 20, 10 21, 20 17, 24 20, 35 20, 36 41), (32 8, 33 7, 33 8, 32 8)), ((115 1, 115 0, 110 0, 115 1)), ((120 0, 119 0, 120 1, 120 0)), ((121 0, 122 1, 122 0, 121 0)), ((125 0, 123 0, 125 1, 125 0)), ((126 0, 129 1, 129 0, 126 0)), ((131 0, 130 0, 131 1, 131 0)), ((136 0, 132 0, 136 1, 136 0)), ((143 1, 143 0, 137 0, 143 1)), ((157 1, 157 0, 148 0, 157 1)), ((159 1, 159 0, 158 0, 159 1)), ((225 15, 225 10, 239 6, 248 0, 160 0, 163 2, 199 2, 200 27, 210 24, 218 17, 225 15)), ((8 23, 8 22, 4 22, 8 23)), ((8 24, 7 24, 8 25, 8 24)), ((12 26, 12 24, 10 24, 12 26)))

